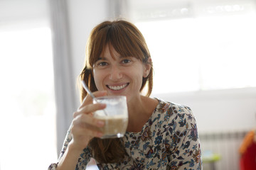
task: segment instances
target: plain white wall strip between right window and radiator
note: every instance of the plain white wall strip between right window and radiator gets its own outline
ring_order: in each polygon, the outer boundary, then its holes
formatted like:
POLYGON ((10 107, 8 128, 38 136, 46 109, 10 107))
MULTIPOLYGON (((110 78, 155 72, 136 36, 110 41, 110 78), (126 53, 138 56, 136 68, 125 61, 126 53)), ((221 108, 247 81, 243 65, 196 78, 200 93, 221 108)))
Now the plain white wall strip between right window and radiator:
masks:
POLYGON ((191 107, 199 132, 256 128, 256 88, 154 96, 191 107))

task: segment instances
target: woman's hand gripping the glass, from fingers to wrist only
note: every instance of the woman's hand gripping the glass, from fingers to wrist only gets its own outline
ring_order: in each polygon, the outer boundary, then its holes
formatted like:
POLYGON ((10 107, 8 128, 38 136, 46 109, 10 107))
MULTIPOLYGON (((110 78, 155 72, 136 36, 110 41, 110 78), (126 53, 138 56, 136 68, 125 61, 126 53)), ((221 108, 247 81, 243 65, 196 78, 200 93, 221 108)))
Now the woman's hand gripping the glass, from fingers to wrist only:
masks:
MULTIPOLYGON (((96 91, 93 94, 95 97, 106 96, 107 91, 96 91)), ((97 128, 102 128, 104 122, 94 118, 92 113, 105 107, 106 105, 102 103, 93 104, 91 96, 85 97, 78 111, 74 113, 71 128, 73 140, 70 142, 73 149, 82 151, 93 137, 101 137, 103 135, 102 132, 97 131, 97 128)))

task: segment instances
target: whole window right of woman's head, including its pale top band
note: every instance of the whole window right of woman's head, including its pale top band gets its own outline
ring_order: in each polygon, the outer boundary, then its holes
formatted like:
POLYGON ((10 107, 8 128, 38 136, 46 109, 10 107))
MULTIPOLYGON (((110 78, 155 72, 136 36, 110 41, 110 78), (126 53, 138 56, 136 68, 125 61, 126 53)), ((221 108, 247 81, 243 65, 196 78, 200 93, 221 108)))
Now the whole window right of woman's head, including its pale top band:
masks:
POLYGON ((130 13, 154 63, 152 94, 256 86, 254 1, 150 2, 130 13))

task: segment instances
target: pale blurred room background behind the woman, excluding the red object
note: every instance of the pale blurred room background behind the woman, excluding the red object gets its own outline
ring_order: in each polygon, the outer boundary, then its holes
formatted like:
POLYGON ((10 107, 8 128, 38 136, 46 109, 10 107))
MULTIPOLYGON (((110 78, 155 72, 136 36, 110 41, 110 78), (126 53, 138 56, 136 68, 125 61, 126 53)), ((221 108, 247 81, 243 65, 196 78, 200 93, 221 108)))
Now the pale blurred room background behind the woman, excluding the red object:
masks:
POLYGON ((192 108, 204 169, 240 169, 256 128, 255 0, 0 0, 1 170, 57 161, 90 30, 120 17, 146 38, 151 97, 192 108))

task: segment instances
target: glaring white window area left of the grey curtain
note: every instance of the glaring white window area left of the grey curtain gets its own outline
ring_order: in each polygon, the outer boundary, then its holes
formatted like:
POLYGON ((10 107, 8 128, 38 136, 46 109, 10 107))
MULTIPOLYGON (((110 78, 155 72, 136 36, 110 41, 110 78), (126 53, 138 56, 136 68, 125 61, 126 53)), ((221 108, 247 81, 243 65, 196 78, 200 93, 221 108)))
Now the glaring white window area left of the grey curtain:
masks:
POLYGON ((0 47, 0 169, 47 169, 57 157, 50 29, 0 30, 0 47))

